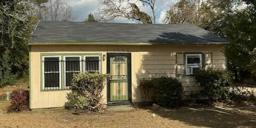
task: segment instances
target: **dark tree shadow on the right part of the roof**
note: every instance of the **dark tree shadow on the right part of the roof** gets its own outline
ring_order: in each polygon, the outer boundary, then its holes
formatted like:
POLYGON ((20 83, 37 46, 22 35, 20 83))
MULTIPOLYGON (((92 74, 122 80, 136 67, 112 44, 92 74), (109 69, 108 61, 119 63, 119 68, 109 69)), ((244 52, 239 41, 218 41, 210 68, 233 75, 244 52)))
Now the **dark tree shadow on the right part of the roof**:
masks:
MULTIPOLYGON (((196 31, 195 31, 196 33, 196 31)), ((224 39, 217 37, 211 33, 208 33, 203 36, 194 36, 182 33, 163 33, 159 35, 160 37, 150 40, 150 42, 158 42, 158 43, 202 43, 202 42, 220 42, 220 40, 224 39), (207 39, 206 39, 207 38, 207 39)))

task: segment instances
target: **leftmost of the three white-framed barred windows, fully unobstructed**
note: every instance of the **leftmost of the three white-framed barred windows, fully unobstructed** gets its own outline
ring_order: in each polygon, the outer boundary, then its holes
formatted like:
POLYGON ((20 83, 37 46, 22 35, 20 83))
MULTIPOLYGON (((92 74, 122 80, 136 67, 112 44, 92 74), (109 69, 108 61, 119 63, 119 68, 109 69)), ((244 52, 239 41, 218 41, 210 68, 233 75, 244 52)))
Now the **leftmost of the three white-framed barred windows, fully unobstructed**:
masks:
POLYGON ((61 89, 60 56, 43 57, 43 90, 61 89))

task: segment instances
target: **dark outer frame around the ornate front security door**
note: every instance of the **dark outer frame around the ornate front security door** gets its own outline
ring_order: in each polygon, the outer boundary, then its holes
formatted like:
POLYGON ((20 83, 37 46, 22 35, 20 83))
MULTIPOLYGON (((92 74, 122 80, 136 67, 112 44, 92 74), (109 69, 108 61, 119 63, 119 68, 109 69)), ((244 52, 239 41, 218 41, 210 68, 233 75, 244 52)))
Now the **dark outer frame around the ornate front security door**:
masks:
POLYGON ((131 53, 115 52, 107 53, 107 74, 110 73, 110 56, 127 56, 127 75, 128 75, 128 101, 110 101, 110 81, 107 79, 107 102, 108 105, 125 105, 132 103, 132 65, 131 53))

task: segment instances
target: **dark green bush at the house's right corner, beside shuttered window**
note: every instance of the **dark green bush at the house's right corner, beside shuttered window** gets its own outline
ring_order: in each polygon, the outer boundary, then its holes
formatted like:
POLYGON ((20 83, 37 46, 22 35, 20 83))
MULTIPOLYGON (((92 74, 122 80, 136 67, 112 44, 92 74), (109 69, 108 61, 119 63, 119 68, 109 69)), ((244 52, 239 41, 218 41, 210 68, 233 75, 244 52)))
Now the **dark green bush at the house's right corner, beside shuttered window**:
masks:
POLYGON ((199 86, 203 90, 199 93, 207 97, 209 102, 230 100, 231 75, 225 70, 201 70, 195 74, 199 86))

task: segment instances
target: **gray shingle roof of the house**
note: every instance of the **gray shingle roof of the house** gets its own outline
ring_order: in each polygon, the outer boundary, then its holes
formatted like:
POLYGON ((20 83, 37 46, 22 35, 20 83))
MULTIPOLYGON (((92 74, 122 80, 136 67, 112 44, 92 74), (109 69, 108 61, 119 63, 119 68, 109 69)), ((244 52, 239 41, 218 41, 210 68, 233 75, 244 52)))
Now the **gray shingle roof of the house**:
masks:
POLYGON ((227 43, 193 25, 40 21, 30 43, 227 43))

